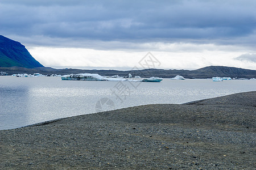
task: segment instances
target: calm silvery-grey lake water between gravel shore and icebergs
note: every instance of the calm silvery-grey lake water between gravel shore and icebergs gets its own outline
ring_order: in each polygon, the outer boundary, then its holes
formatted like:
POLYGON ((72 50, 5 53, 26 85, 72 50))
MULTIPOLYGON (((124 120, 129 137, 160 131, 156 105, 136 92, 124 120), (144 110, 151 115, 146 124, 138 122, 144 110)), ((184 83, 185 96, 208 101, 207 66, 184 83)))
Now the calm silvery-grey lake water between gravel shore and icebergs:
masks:
POLYGON ((255 80, 164 79, 160 83, 130 83, 0 76, 0 129, 135 105, 181 104, 255 90, 255 80))

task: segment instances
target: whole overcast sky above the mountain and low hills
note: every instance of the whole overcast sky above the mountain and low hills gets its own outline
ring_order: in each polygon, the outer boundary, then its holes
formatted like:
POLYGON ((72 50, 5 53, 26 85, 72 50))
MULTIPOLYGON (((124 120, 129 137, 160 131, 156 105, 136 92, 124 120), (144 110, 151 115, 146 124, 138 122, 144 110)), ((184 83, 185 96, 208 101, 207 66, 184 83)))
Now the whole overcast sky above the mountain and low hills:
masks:
POLYGON ((0 0, 0 35, 47 67, 256 70, 254 0, 0 0))

